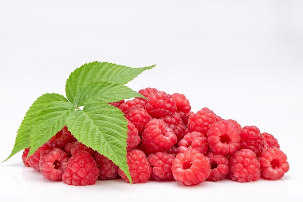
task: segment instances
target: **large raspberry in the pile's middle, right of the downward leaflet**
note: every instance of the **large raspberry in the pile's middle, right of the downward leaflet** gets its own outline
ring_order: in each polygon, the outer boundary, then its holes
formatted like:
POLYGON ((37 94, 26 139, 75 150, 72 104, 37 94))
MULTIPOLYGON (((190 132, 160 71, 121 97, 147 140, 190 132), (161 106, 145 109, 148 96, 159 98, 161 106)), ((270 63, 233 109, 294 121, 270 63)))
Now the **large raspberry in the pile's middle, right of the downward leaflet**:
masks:
POLYGON ((145 125, 145 130, 142 133, 142 143, 147 147, 170 148, 177 143, 177 136, 162 119, 152 118, 145 125))

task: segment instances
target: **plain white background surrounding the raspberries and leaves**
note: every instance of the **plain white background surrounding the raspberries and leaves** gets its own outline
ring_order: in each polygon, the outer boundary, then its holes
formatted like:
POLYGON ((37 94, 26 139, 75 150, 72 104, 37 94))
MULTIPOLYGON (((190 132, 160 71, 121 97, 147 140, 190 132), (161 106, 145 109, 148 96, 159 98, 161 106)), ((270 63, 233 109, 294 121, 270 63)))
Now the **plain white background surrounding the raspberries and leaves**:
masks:
POLYGON ((258 126, 278 139, 290 170, 250 183, 68 186, 24 167, 18 153, 0 163, 0 201, 303 199, 303 1, 0 0, 0 161, 32 102, 65 95, 69 74, 93 61, 156 63, 128 86, 183 93, 194 112, 258 126))

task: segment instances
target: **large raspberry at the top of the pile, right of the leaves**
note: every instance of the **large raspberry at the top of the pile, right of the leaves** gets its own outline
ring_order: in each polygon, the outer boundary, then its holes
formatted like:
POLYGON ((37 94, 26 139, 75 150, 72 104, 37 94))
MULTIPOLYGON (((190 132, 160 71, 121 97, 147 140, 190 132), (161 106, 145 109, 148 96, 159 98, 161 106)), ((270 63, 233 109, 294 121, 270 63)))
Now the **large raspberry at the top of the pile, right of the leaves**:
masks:
POLYGON ((176 101, 172 96, 164 91, 150 93, 145 100, 146 109, 152 118, 171 116, 177 111, 176 101))

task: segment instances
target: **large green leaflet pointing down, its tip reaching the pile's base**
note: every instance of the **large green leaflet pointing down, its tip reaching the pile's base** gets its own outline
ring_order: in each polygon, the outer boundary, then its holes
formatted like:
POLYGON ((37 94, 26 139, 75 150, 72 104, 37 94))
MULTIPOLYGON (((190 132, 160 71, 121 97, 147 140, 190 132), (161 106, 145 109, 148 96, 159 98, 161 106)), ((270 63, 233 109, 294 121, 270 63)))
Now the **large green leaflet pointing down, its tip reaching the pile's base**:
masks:
POLYGON ((127 120, 118 108, 91 103, 66 118, 66 125, 77 140, 112 160, 131 182, 126 159, 127 120))

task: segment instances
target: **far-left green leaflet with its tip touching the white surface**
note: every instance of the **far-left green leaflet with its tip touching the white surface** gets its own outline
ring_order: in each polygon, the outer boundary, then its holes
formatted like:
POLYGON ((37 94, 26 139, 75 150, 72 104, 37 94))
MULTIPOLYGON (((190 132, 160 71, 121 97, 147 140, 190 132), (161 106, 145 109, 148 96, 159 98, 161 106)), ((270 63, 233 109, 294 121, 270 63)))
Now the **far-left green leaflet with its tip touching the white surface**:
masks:
POLYGON ((41 109, 45 107, 45 105, 54 101, 68 102, 68 100, 61 94, 45 93, 38 97, 37 100, 30 106, 17 131, 14 148, 11 154, 4 161, 8 160, 21 150, 30 147, 30 131, 32 130, 35 124, 35 119, 37 115, 39 114, 41 109))

